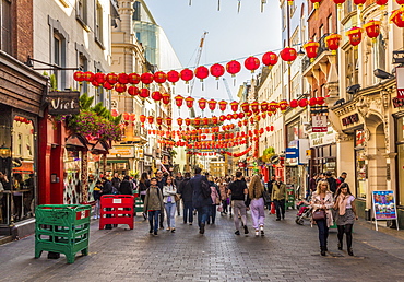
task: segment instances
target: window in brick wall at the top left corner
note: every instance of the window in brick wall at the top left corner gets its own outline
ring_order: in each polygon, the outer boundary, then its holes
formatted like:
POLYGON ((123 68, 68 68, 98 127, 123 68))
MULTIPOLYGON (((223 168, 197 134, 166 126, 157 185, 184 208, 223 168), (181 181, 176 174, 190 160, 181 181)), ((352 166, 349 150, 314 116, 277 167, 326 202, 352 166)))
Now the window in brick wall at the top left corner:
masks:
POLYGON ((11 20, 11 1, 0 0, 0 49, 10 54, 12 52, 12 20, 11 20))

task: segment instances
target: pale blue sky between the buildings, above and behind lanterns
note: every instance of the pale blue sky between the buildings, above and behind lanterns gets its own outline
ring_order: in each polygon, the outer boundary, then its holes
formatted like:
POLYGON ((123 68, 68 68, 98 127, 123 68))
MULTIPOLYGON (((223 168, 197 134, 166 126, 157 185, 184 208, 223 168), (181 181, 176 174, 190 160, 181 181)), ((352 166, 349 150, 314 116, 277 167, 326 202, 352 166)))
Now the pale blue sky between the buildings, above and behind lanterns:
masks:
MULTIPOLYGON (((261 13, 261 0, 241 0, 240 12, 237 12, 238 0, 146 0, 155 21, 161 25, 170 40, 183 67, 193 67, 197 49, 204 31, 209 32, 200 64, 221 62, 223 66, 233 59, 260 55, 278 49, 281 40, 281 10, 278 1, 269 0, 261 13)), ((230 84, 233 95, 237 89, 231 78, 225 78, 230 84)), ((243 69, 237 75, 237 84, 251 79, 251 73, 243 69)), ((206 98, 227 98, 223 82, 217 84, 214 78, 205 80, 205 91, 195 82, 193 96, 206 98)))

